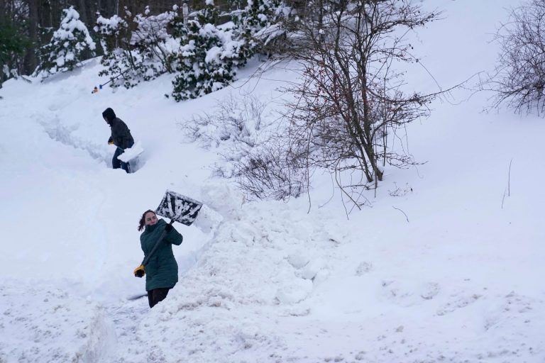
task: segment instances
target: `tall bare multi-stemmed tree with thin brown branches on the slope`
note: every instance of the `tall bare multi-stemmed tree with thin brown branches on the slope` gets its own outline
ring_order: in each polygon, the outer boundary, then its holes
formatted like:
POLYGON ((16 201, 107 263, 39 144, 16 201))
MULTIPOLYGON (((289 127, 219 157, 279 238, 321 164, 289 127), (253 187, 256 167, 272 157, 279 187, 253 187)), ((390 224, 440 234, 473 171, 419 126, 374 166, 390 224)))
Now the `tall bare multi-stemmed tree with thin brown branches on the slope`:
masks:
MULTIPOLYGON (((293 31, 288 55, 301 62, 302 83, 289 91, 290 145, 306 150, 299 165, 335 174, 343 193, 356 206, 363 189, 382 180, 385 163, 413 164, 412 156, 395 152, 388 140, 400 128, 429 115, 438 94, 405 91, 402 62, 419 62, 405 36, 439 18, 410 0, 331 1, 307 4, 302 18, 286 26, 293 31)), ((310 175, 307 170, 302 173, 310 175)))

